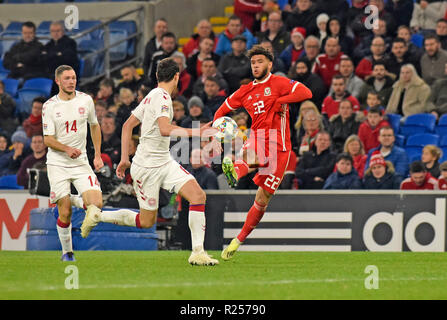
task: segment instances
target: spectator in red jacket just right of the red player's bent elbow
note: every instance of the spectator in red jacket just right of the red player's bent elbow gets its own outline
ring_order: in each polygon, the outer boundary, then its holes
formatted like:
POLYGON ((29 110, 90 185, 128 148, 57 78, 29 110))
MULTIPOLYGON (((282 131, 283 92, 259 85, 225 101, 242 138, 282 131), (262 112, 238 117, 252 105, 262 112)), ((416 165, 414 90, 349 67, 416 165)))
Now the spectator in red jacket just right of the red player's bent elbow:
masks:
POLYGON ((333 115, 339 113, 338 108, 340 102, 345 99, 351 101, 354 112, 360 110, 360 103, 358 100, 346 90, 346 80, 342 75, 338 74, 333 77, 332 91, 333 93, 323 100, 323 105, 321 107, 321 113, 323 116, 327 117, 327 119, 330 119, 333 115))

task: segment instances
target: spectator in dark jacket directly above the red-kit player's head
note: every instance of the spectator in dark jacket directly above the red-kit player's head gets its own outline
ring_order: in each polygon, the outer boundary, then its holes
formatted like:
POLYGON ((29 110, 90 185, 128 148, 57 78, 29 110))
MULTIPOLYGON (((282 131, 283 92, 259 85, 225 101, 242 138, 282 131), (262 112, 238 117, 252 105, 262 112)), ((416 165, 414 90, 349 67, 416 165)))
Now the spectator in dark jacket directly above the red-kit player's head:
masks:
POLYGON ((261 43, 264 39, 270 40, 275 51, 275 56, 279 57, 281 52, 290 44, 290 34, 284 28, 280 12, 274 11, 269 14, 267 30, 258 33, 256 38, 258 39, 258 43, 261 43))

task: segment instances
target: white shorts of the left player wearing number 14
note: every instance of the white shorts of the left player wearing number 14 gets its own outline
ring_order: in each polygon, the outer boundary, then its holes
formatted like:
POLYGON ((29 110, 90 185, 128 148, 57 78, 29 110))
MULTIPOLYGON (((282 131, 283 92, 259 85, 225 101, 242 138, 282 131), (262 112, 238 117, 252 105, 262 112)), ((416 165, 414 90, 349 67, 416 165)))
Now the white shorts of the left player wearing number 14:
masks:
POLYGON ((72 168, 47 165, 47 173, 51 203, 71 193, 70 183, 73 183, 80 195, 87 190, 101 191, 98 178, 88 164, 72 168))

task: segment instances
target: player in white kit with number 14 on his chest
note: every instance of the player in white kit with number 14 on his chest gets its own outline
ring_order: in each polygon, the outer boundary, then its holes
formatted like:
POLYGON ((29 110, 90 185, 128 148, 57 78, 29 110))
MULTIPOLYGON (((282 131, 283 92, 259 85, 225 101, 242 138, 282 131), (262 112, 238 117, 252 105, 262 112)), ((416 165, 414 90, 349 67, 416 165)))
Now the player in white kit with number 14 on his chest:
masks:
MULTIPOLYGON (((59 66, 55 71, 59 93, 42 108, 44 142, 48 146, 47 173, 50 200, 59 210, 57 232, 62 245, 62 260, 74 261, 71 237, 70 183, 78 190, 85 204, 86 219, 99 216, 102 192, 98 179, 89 165, 86 153, 87 124, 95 148, 95 170, 104 166, 101 159, 101 129, 92 98, 76 91, 76 73, 72 67, 59 66)), ((85 221, 85 220, 84 220, 85 221)), ((81 227, 86 237, 92 227, 81 227)))

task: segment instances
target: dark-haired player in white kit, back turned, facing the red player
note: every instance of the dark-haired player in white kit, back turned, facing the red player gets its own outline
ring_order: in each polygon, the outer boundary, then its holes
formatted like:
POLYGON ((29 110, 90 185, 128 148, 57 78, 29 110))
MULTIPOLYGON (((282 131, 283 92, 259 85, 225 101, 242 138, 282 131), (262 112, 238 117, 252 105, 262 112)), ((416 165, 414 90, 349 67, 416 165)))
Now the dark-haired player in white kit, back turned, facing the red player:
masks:
MULTIPOLYGON (((193 129, 172 125, 173 108, 171 94, 177 90, 179 68, 171 58, 160 61, 157 67, 158 88, 153 89, 124 123, 121 138, 121 161, 116 175, 124 178, 130 167, 134 189, 140 206, 139 213, 128 209, 103 212, 101 221, 119 225, 150 228, 157 219, 160 188, 180 194, 189 201, 189 228, 192 253, 188 262, 192 265, 215 265, 203 248, 205 238, 206 194, 195 178, 177 163, 169 152, 170 136, 191 137, 193 129), (132 130, 141 123, 141 137, 132 164, 128 146, 132 130)), ((197 135, 212 136, 216 130, 211 122, 204 125, 197 135)))

